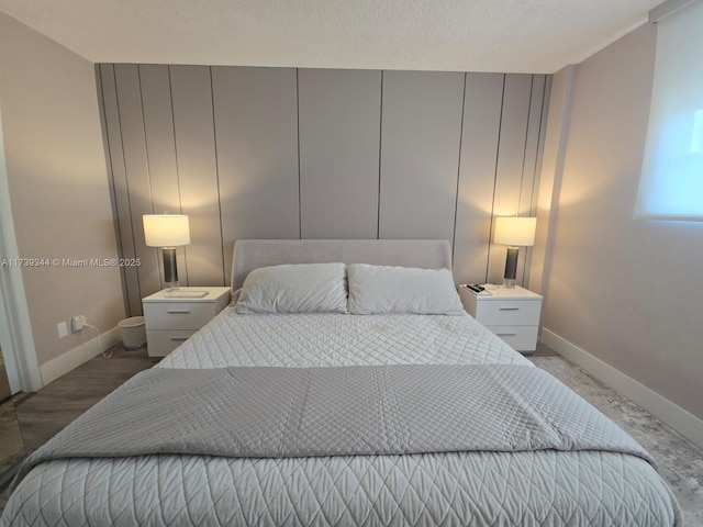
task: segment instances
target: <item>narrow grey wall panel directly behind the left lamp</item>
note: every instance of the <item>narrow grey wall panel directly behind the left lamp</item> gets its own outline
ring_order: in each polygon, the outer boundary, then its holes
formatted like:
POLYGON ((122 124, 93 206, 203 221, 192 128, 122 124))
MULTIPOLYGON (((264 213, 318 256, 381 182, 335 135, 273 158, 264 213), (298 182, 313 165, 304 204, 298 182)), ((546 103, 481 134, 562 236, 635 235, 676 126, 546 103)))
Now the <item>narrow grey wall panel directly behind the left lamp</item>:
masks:
MULTIPOLYGON (((140 65, 140 82, 142 89, 142 108, 144 110, 144 135, 146 154, 149 164, 152 184, 150 213, 165 212, 179 214, 180 188, 178 184, 178 166, 176 164, 176 139, 174 137, 174 115, 171 112, 170 81, 168 66, 140 65)), ((158 249, 152 249, 157 254, 158 249)), ((186 251, 177 250, 180 281, 187 283, 186 251)), ((157 258, 159 268, 160 258, 157 258)), ((159 272, 161 287, 163 270, 159 272)))

